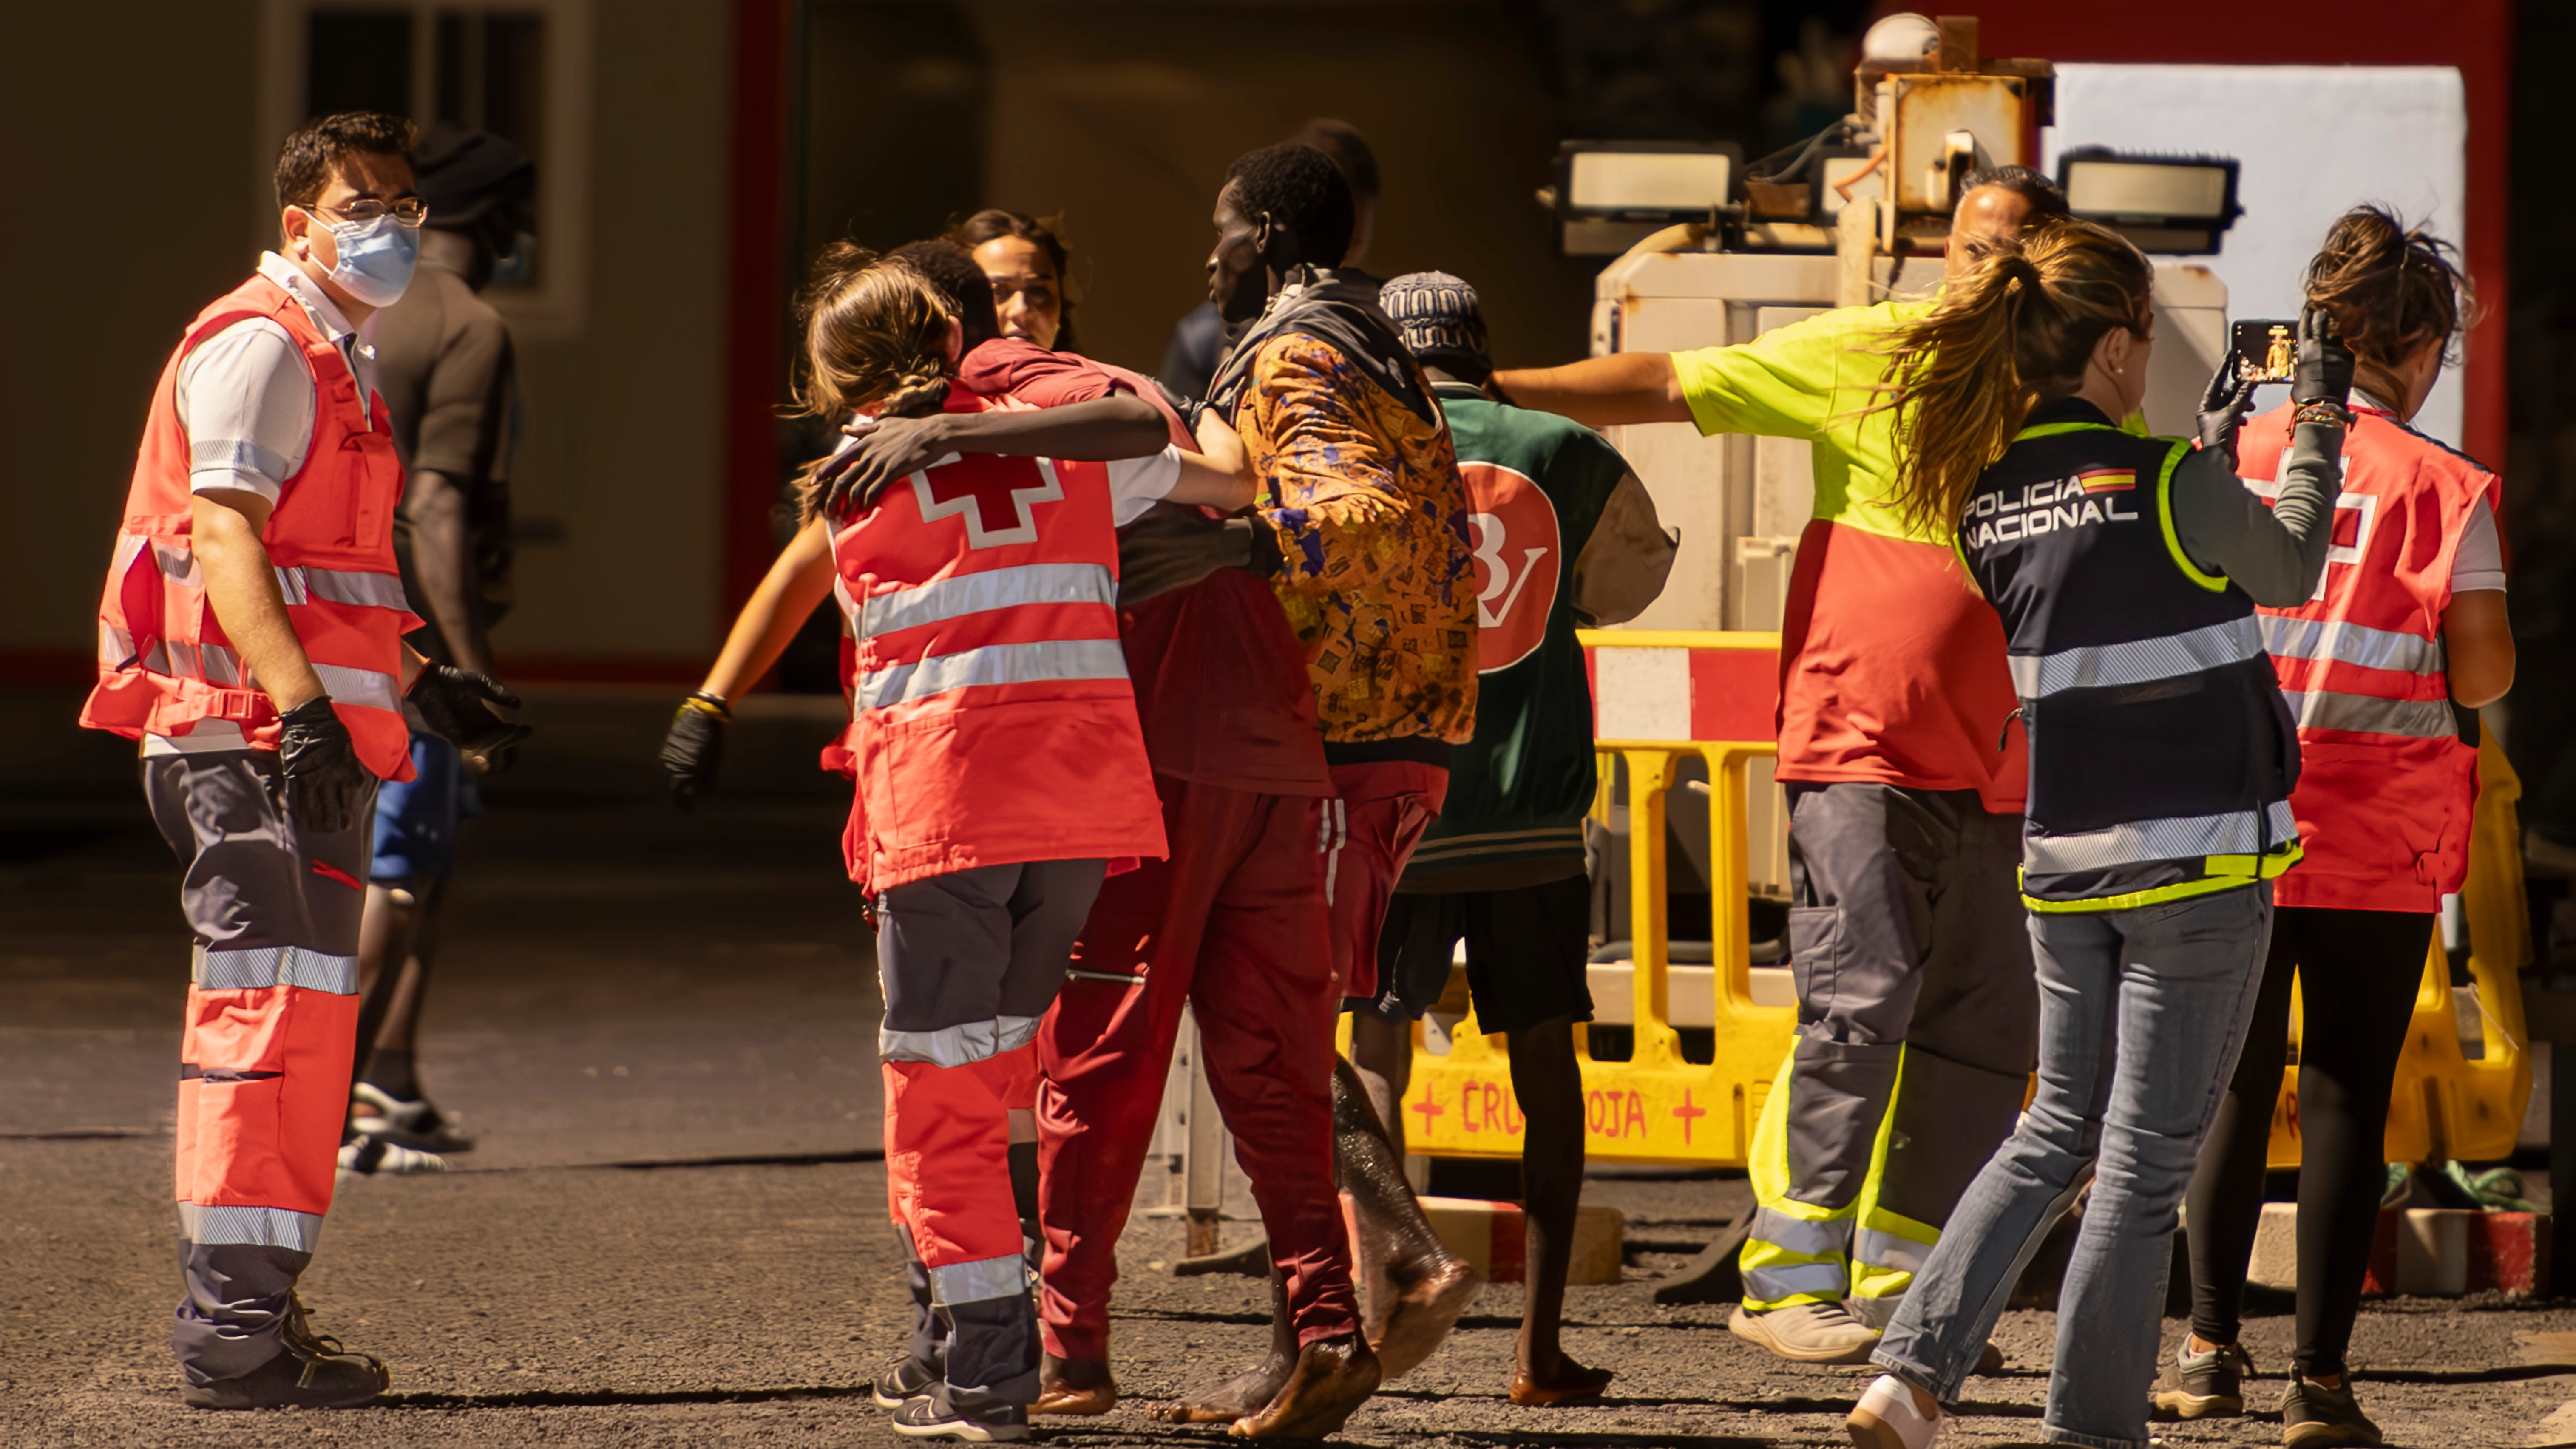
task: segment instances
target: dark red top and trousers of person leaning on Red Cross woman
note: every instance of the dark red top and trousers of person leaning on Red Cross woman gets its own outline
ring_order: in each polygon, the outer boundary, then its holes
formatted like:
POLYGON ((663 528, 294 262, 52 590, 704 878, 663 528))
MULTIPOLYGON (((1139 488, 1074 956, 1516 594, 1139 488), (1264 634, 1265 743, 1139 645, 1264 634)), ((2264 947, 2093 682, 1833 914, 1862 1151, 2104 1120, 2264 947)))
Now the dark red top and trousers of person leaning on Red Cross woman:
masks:
MULTIPOLYGON (((961 381, 1059 407, 1154 383, 989 342, 961 381)), ((1175 417, 1175 440, 1195 440, 1175 417)), ((1358 1336, 1332 1176, 1332 919, 1316 847, 1332 775, 1278 597, 1242 569, 1121 610, 1170 860, 1103 885, 1074 975, 1038 1029, 1046 1372, 1036 1413, 1108 1413, 1108 1305, 1162 1107, 1180 1009, 1198 1004, 1211 1086, 1306 1343, 1358 1336)))

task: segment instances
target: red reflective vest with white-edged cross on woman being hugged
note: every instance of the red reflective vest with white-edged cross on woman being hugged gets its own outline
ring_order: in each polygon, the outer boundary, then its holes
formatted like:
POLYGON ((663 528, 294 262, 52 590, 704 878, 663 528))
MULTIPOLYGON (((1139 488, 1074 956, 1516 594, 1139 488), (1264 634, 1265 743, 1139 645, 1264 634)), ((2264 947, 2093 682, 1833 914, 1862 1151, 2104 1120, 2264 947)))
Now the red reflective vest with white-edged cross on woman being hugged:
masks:
MULTIPOLYGON (((948 412, 987 407, 951 383, 948 412)), ((853 638, 853 880, 1167 852, 1118 646, 1105 463, 945 458, 842 528, 832 566, 853 638)))

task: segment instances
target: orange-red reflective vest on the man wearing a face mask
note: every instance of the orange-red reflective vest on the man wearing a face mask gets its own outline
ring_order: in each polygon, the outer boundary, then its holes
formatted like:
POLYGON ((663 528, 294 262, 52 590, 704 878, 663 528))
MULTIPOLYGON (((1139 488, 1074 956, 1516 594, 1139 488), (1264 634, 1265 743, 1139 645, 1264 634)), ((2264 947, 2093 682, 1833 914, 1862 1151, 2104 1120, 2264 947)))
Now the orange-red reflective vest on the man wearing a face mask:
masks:
POLYGON ((188 324, 162 363, 134 456, 134 484, 98 600, 98 687, 80 723, 126 739, 183 736, 198 721, 237 721, 255 749, 278 746, 278 710, 206 605, 188 543, 188 430, 178 368, 201 342, 252 317, 296 340, 314 378, 314 435, 260 530, 278 569, 286 618, 348 723, 358 759, 384 780, 412 777, 402 723, 402 636, 420 628, 394 564, 402 463, 384 401, 358 404, 348 358, 278 283, 252 275, 188 324))

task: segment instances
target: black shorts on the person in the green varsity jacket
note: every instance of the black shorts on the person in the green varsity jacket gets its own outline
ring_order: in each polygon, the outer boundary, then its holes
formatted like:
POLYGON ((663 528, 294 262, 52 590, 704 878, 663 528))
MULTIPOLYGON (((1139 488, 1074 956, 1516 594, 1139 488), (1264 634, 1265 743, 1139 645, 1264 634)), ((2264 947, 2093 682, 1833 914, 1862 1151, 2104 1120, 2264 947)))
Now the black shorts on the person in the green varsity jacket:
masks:
POLYGON ((1458 942, 1476 1024, 1520 1032, 1556 1017, 1592 1019, 1592 880, 1569 875, 1517 891, 1394 896, 1378 932, 1378 996, 1350 1011, 1419 1022, 1448 991, 1458 942))

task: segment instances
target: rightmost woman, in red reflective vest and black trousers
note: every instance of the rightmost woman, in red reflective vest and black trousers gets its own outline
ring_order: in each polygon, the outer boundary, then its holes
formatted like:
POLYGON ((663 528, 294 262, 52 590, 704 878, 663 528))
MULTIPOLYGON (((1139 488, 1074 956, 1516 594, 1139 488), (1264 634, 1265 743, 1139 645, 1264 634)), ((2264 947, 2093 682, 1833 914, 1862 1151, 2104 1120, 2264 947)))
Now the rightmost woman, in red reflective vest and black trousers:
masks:
MULTIPOLYGON (((2282 1441, 2378 1444, 2344 1380, 2362 1271, 2380 1220, 2388 1091, 2414 1017, 2442 896, 2468 872, 2478 798, 2476 708, 2514 679, 2496 538, 2501 481, 2409 427, 2468 322, 2468 278, 2439 237, 2378 206, 2347 211, 2308 263, 2308 304, 2354 353, 2342 497, 2349 561, 2313 597, 2264 610, 2272 667, 2306 757, 2290 808, 2308 860, 2280 914, 2236 1081, 2192 1179, 2192 1336, 2156 1405, 2244 1413, 2236 1343, 2264 1156, 2300 993, 2298 1351, 2282 1441)), ((2246 422, 2239 474, 2269 489, 2293 409, 2246 422)))

